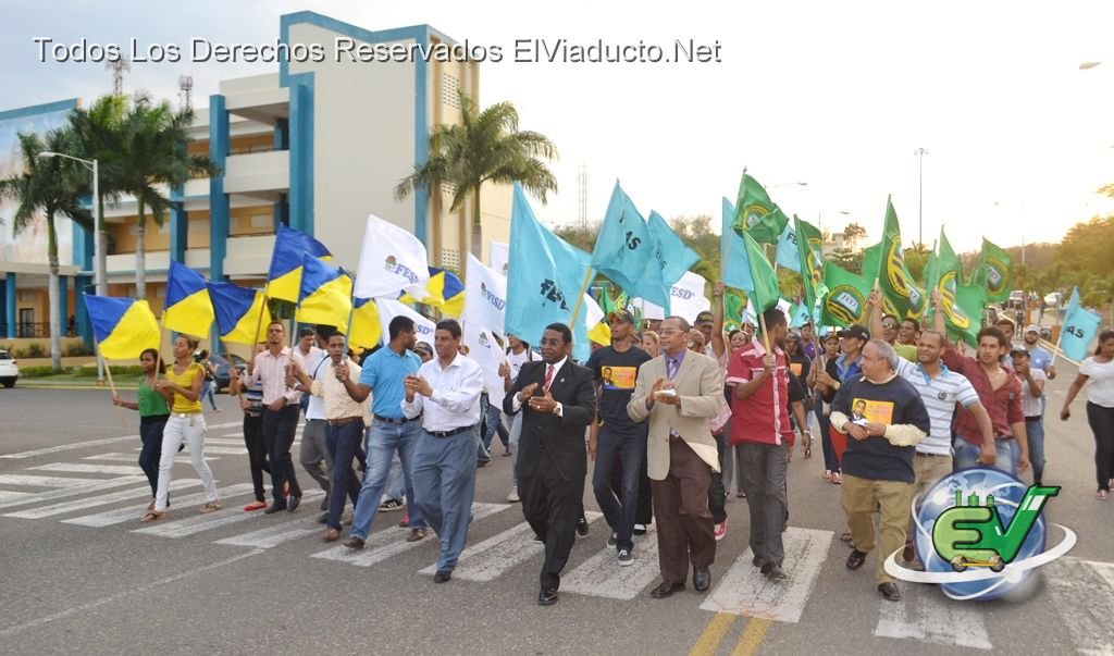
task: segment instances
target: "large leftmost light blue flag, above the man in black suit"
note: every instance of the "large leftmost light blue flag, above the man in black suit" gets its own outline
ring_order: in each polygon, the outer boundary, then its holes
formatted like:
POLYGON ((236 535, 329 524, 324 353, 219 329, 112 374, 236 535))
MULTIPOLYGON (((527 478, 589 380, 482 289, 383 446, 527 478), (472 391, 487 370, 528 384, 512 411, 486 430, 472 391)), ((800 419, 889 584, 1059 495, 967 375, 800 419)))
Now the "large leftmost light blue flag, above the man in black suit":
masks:
MULTIPOLYGON (((515 184, 510 210, 510 261, 507 267, 507 334, 537 344, 551 323, 568 325, 577 307, 577 295, 590 276, 592 256, 566 244, 543 226, 515 184)), ((583 303, 573 330, 574 358, 587 360, 589 352, 583 303), (583 358, 582 358, 583 355, 583 358)))

